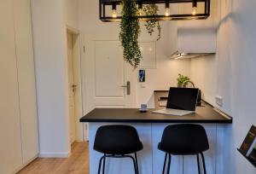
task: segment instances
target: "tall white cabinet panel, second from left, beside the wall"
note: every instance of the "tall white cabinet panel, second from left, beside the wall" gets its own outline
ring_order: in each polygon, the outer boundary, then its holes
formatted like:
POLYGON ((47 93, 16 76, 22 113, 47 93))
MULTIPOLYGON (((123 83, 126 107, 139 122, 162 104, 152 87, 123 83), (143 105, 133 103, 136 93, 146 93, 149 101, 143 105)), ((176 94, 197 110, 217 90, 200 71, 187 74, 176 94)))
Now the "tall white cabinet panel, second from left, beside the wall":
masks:
POLYGON ((30 0, 14 0, 23 163, 38 154, 38 120, 30 0))

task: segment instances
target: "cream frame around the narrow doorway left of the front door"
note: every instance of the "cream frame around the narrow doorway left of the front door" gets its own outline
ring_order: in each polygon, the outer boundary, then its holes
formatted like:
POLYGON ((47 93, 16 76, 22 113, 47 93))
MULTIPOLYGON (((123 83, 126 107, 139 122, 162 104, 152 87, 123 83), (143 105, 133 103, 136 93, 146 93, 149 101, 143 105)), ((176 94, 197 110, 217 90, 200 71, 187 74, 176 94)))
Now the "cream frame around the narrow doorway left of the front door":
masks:
MULTIPOLYGON (((74 81, 77 84, 77 90, 75 95, 75 142, 83 142, 84 141, 84 124, 80 124, 79 119, 83 115, 83 99, 82 99, 82 73, 81 73, 81 37, 78 29, 72 26, 66 26, 66 37, 67 33, 72 34, 75 39, 73 39, 73 73, 74 73, 74 81)), ((66 39, 67 42, 67 39, 66 39)), ((67 79, 68 79, 68 61, 67 61, 67 79)), ((68 95, 68 81, 67 81, 67 95, 68 95)), ((69 101, 67 101, 67 111, 69 110, 69 101)), ((68 112, 68 118, 70 118, 68 112)), ((70 121, 68 120, 68 127, 70 131, 70 121)), ((68 131, 68 139, 71 141, 70 133, 68 131)))

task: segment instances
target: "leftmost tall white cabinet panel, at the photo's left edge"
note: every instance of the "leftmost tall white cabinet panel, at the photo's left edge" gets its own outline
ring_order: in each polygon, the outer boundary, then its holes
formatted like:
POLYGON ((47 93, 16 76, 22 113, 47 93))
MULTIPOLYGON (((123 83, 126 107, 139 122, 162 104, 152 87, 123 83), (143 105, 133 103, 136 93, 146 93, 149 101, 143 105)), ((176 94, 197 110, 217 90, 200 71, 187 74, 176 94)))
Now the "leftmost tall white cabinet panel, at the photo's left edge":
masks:
POLYGON ((13 4, 0 1, 0 173, 22 164, 13 4))

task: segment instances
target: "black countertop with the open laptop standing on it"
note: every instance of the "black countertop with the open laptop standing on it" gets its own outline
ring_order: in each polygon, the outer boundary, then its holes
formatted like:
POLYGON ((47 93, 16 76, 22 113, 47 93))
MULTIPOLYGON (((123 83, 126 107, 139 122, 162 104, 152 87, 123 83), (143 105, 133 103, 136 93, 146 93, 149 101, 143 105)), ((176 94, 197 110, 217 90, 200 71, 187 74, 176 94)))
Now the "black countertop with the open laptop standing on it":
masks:
POLYGON ((184 116, 172 116, 152 113, 156 109, 149 109, 147 113, 140 113, 137 108, 95 108, 87 113, 80 122, 115 122, 115 123, 218 123, 231 124, 232 118, 215 108, 203 104, 196 107, 195 113, 184 116))

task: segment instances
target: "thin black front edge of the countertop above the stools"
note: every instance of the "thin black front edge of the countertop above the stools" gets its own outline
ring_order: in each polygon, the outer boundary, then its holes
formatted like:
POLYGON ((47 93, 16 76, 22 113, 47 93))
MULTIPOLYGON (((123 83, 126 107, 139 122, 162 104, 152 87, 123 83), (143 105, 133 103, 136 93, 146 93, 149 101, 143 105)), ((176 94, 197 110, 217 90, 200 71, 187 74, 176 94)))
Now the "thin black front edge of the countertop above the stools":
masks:
POLYGON ((172 119, 172 120, 157 120, 157 119, 80 119, 81 123, 202 123, 202 124, 231 124, 232 119, 226 120, 201 120, 201 119, 172 119))

